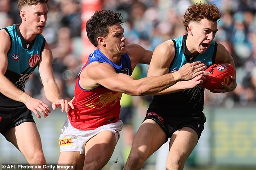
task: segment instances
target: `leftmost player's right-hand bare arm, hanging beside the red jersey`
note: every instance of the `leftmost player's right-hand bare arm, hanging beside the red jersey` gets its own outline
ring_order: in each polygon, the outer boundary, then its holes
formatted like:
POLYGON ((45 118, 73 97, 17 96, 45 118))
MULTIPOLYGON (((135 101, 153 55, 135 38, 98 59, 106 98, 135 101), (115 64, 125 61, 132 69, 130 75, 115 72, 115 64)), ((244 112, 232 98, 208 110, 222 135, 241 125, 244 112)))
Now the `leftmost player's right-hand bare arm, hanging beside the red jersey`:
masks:
POLYGON ((54 79, 52 70, 52 52, 48 43, 46 42, 44 50, 42 52, 42 58, 39 63, 39 73, 44 86, 44 92, 46 98, 52 102, 52 109, 61 107, 61 111, 68 112, 69 104, 67 100, 61 98, 59 87, 54 79))

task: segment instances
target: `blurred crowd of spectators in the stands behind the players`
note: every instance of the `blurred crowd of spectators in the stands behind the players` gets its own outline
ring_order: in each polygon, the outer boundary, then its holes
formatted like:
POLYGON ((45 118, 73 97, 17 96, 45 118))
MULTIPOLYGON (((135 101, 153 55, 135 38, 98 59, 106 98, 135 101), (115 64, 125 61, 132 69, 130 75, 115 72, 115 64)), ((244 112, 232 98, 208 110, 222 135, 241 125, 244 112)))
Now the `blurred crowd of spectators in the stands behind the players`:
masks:
MULTIPOLYGON (((101 0, 102 9, 117 10, 124 18, 126 43, 138 43, 146 49, 185 33, 183 14, 191 3, 216 4, 222 17, 215 40, 225 45, 235 59, 237 88, 233 92, 213 94, 206 91, 206 105, 233 107, 256 101, 256 1, 255 0, 101 0)), ((76 76, 84 65, 81 38, 82 0, 49 0, 49 12, 43 35, 53 53, 55 78, 63 98, 71 99, 76 76)), ((0 0, 0 28, 20 23, 17 0, 0 0)), ((145 65, 138 65, 136 77, 147 76, 145 65)), ((48 103, 42 93, 39 73, 31 75, 26 92, 48 103)), ((134 97, 138 103, 137 98, 134 97)), ((141 98, 149 102, 151 96, 141 98)), ((147 104, 146 104, 147 105, 147 104)))

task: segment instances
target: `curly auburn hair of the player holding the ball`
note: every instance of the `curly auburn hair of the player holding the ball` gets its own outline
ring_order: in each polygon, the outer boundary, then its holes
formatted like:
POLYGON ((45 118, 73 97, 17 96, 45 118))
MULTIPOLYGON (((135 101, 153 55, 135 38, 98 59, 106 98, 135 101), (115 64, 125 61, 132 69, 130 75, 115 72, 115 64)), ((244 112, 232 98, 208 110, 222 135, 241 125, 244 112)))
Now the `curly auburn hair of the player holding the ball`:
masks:
POLYGON ((187 26, 191 20, 199 22, 202 19, 207 19, 210 21, 219 21, 220 20, 220 10, 216 7, 215 4, 206 4, 206 3, 196 3, 192 4, 187 8, 187 11, 184 14, 183 25, 187 30, 187 26))

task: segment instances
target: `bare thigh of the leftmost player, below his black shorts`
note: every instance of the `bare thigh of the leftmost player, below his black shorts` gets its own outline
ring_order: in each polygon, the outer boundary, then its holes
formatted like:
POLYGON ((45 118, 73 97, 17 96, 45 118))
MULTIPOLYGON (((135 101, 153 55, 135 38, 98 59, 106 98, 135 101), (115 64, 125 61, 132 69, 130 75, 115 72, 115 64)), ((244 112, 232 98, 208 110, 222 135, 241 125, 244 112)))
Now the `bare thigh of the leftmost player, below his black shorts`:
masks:
POLYGON ((6 131, 5 136, 21 153, 33 154, 35 151, 42 151, 41 138, 34 122, 21 123, 6 131))

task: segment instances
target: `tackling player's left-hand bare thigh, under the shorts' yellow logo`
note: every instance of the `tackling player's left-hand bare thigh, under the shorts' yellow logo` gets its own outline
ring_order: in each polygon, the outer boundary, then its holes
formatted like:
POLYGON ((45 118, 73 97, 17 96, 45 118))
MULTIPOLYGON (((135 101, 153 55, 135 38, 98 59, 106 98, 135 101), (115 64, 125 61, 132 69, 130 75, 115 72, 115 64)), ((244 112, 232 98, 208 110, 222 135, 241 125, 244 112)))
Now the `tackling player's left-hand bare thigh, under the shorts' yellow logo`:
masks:
POLYGON ((61 152, 58 160, 59 166, 74 165, 76 170, 82 170, 84 166, 84 154, 80 151, 64 151, 61 152))

